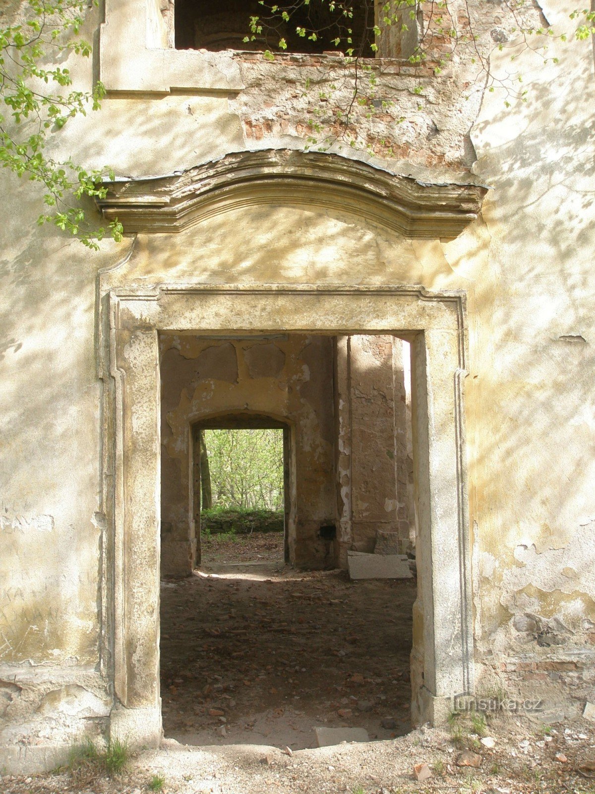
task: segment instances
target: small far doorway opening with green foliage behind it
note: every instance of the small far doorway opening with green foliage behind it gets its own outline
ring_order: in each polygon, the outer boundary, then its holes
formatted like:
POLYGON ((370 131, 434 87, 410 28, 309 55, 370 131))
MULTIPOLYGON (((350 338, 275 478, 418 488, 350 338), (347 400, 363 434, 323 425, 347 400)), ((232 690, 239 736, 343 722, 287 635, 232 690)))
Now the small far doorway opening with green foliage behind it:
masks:
POLYGON ((228 417, 194 426, 194 504, 200 569, 288 557, 286 480, 290 430, 266 417, 228 417))

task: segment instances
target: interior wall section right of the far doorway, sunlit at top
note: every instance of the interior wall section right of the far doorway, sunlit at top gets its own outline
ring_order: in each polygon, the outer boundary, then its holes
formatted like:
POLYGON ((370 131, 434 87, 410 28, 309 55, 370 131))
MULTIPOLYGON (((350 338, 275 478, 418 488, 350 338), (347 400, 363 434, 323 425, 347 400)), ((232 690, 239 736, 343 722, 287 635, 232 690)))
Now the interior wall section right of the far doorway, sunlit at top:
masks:
POLYGON ((378 531, 411 548, 408 484, 413 460, 405 403, 403 342, 353 334, 337 345, 337 480, 341 561, 347 549, 372 552, 378 531))

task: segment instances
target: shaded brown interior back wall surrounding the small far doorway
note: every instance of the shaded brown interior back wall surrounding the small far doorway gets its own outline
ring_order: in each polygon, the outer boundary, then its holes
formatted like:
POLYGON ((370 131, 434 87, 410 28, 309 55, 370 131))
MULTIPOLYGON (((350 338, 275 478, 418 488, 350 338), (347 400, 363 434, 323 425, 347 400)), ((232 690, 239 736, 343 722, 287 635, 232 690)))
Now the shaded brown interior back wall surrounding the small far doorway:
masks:
POLYGON ((187 576, 196 554, 190 504, 190 424, 248 411, 291 426, 290 561, 335 562, 321 526, 335 523, 332 339, 161 337, 162 572, 187 576))

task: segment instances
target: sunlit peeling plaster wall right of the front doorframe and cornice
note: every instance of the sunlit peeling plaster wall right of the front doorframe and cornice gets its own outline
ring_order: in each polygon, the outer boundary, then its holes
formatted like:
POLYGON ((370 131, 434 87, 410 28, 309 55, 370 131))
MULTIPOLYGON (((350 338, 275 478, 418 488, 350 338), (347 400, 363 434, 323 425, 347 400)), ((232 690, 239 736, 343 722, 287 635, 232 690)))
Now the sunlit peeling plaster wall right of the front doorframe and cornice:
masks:
MULTIPOLYGON (((568 29, 564 3, 542 7, 568 29)), ((493 54, 497 75, 512 54, 493 54)), ((581 713, 595 684, 593 50, 549 54, 563 67, 521 55, 527 102, 486 94, 472 131, 493 190, 467 391, 480 682, 543 696, 545 721, 581 713)))

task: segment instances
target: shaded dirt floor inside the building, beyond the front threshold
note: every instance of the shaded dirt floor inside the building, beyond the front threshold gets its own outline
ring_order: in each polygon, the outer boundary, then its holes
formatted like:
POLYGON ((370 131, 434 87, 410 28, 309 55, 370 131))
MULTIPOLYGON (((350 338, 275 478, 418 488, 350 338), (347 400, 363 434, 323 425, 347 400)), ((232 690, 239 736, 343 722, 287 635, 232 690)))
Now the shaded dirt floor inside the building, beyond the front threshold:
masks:
MULTIPOLYGON (((271 542, 259 538, 259 553, 271 542)), ((315 727, 407 733, 415 591, 412 580, 351 582, 279 561, 213 562, 163 582, 166 737, 301 750, 317 746, 315 727)))

